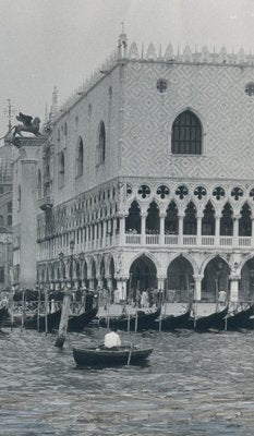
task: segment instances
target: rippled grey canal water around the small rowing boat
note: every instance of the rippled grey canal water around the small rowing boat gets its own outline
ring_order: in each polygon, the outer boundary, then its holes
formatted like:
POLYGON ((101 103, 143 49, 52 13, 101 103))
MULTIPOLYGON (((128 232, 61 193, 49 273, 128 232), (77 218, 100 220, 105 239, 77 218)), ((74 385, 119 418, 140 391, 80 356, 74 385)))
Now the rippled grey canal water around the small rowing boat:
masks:
POLYGON ((76 368, 73 346, 104 329, 56 337, 9 331, 0 339, 0 435, 253 436, 254 331, 122 332, 154 347, 146 366, 76 368))

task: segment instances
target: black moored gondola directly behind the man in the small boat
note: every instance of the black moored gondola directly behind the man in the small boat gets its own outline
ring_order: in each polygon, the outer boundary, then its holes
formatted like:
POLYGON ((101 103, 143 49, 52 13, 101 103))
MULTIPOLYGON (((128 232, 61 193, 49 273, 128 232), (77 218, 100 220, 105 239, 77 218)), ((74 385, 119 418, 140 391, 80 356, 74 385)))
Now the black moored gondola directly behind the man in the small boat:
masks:
POLYGON ((116 327, 119 330, 148 330, 153 327, 156 318, 160 315, 160 308, 156 312, 145 313, 137 311, 136 315, 122 315, 112 318, 101 318, 99 325, 101 327, 116 327))

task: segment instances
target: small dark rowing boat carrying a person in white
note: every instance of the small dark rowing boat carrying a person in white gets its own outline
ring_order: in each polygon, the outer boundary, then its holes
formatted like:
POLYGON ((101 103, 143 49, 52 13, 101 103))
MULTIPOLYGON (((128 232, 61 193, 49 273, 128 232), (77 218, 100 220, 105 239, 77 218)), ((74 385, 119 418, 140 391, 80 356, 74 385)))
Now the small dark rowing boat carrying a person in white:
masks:
POLYGON ((153 348, 137 349, 119 347, 118 349, 105 348, 73 348, 73 358, 77 366, 110 366, 141 364, 150 355, 153 348))

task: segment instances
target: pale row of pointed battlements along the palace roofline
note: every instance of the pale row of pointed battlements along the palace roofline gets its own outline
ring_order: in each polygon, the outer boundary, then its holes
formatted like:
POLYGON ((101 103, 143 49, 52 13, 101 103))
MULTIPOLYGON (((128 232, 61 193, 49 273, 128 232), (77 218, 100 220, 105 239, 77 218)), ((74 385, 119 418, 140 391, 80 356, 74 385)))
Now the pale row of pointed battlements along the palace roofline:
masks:
POLYGON ((232 51, 229 53, 225 46, 221 47, 220 51, 209 51, 207 46, 202 47, 199 51, 195 48, 194 51, 186 45, 182 52, 178 47, 177 51, 173 50, 171 44, 166 47, 162 52, 161 46, 156 49, 155 45, 150 43, 147 49, 142 45, 138 50, 136 43, 132 43, 128 48, 128 39, 125 34, 121 34, 118 48, 112 55, 106 59, 106 61, 86 80, 72 95, 65 100, 65 102, 55 113, 53 121, 64 116, 72 106, 74 106, 84 95, 86 95, 98 82, 100 82, 112 69, 119 64, 125 62, 156 62, 166 64, 214 64, 214 65, 234 65, 234 66, 253 66, 254 56, 252 53, 246 55, 243 48, 237 53, 232 51))

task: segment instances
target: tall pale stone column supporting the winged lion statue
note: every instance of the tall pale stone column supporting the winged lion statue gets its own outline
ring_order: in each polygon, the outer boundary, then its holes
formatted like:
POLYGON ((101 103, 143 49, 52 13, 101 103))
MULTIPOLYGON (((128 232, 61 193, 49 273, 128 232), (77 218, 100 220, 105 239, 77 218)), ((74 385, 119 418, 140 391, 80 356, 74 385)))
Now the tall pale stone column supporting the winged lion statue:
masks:
POLYGON ((20 284, 35 288, 37 239, 38 153, 47 137, 19 137, 21 162, 21 259, 20 284))

